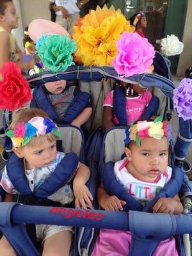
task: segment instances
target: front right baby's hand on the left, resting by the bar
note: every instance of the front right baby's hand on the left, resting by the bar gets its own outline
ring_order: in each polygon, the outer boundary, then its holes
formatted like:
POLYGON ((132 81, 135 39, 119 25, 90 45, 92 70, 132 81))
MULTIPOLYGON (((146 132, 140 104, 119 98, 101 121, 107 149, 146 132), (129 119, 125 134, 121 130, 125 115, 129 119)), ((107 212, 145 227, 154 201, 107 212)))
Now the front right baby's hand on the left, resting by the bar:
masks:
POLYGON ((97 189, 97 201, 106 211, 123 211, 122 205, 126 202, 118 199, 116 196, 109 196, 102 185, 97 189))

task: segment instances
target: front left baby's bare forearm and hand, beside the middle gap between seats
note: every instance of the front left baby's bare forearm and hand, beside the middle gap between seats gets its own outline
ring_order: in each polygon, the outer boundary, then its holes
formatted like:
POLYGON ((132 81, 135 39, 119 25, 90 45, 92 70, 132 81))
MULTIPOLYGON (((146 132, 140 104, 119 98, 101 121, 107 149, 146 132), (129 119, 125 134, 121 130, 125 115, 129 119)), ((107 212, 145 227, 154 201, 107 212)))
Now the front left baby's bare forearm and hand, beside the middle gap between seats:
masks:
POLYGON ((92 206, 92 194, 86 186, 86 182, 90 178, 89 168, 82 163, 79 163, 77 168, 76 176, 74 177, 73 191, 76 198, 76 207, 81 208, 81 206, 86 209, 86 203, 92 206))

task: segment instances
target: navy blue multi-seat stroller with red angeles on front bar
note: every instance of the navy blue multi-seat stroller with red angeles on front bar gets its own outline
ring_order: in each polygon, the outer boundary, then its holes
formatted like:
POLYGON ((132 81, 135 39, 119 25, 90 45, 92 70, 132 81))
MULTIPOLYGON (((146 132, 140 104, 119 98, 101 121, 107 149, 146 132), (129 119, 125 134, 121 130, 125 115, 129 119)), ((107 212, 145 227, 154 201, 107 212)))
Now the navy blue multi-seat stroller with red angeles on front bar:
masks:
MULTIPOLYGON (((104 97, 112 90, 113 79, 140 83, 141 86, 152 90, 153 95, 159 98, 160 103, 157 114, 163 115, 165 119, 170 120, 173 111, 174 84, 170 74, 169 63, 159 52, 156 52, 156 58, 154 58, 154 71, 156 72, 155 74, 118 77, 113 67, 90 68, 73 66, 65 72, 56 74, 43 72, 40 75, 28 77, 31 88, 56 79, 77 79, 81 90, 90 92, 93 115, 90 122, 86 124, 88 131, 91 131, 88 140, 84 140, 81 129, 73 125, 61 125, 62 140, 58 141, 58 147, 66 153, 76 152, 80 161, 90 167, 91 177, 87 186, 94 197, 93 205, 95 209, 99 209, 97 200, 95 200, 95 193, 101 177, 102 179, 105 177, 104 165, 108 161, 118 161, 124 152, 125 127, 121 125, 113 127, 106 133, 100 127, 102 124, 102 102, 104 97)), ((8 115, 9 113, 4 116, 8 115)), ((132 243, 129 255, 152 255, 160 241, 172 236, 177 237, 180 255, 190 255, 189 236, 184 235, 181 237, 180 235, 191 234, 192 232, 192 225, 190 225, 192 221, 190 214, 192 204, 189 200, 192 195, 192 187, 182 170, 182 164, 174 167, 174 162, 175 159, 184 159, 188 154, 192 140, 192 125, 191 120, 183 121, 180 119, 179 135, 175 145, 172 145, 170 157, 170 165, 174 168, 173 179, 168 182, 168 186, 162 189, 157 196, 171 196, 179 191, 181 199, 186 204, 184 214, 177 216, 173 214, 152 214, 151 204, 148 205, 145 212, 138 207, 125 209, 123 212, 108 212, 95 209, 81 210, 65 209, 65 207, 21 205, 17 202, 5 203, 3 202, 2 191, 0 230, 10 241, 17 255, 40 255, 31 239, 29 239, 24 223, 72 225, 76 227, 74 255, 91 255, 99 228, 130 230, 132 243)), ((6 122, 4 124, 6 127, 6 122)), ((113 185, 116 180, 111 177, 111 180, 106 182, 113 185)), ((124 196, 130 196, 127 194, 124 194, 124 196)), ((44 197, 43 193, 40 196, 44 197)), ((154 200, 157 200, 157 198, 154 198, 154 200)))

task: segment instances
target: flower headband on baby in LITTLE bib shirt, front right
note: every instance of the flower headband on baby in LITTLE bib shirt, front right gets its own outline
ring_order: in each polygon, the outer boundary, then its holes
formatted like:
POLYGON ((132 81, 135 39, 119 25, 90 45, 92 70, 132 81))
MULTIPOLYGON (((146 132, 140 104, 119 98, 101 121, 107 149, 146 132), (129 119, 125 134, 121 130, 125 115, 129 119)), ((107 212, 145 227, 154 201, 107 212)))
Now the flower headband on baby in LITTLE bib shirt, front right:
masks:
POLYGON ((141 140, 144 138, 154 138, 161 140, 163 136, 166 136, 169 140, 172 139, 172 125, 168 121, 163 121, 163 116, 158 116, 154 121, 139 121, 137 124, 131 124, 131 127, 125 130, 126 138, 125 144, 129 144, 131 141, 136 141, 138 145, 141 145, 141 140))

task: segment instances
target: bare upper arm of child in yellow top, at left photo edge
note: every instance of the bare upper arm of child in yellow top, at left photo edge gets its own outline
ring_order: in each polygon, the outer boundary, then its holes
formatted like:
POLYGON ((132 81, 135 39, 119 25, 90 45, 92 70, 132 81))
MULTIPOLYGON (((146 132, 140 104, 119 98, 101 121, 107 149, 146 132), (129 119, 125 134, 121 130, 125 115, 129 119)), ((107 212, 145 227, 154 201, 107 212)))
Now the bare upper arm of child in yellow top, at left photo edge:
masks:
POLYGON ((3 63, 9 61, 10 55, 10 36, 6 31, 0 33, 0 67, 3 63))

